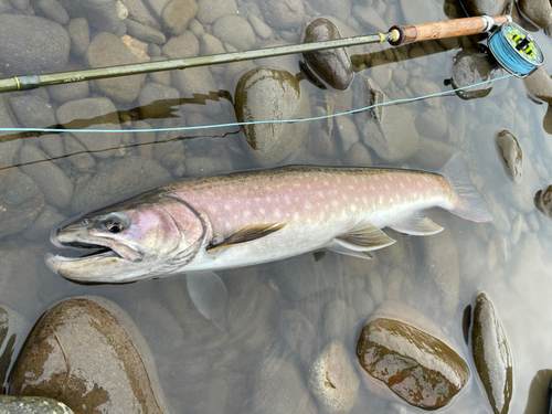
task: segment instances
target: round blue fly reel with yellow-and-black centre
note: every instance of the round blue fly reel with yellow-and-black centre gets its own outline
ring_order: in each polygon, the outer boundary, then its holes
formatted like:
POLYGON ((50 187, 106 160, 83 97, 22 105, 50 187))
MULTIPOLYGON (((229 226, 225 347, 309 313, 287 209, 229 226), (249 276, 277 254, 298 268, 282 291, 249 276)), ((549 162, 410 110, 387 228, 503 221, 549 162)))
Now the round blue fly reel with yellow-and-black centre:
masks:
POLYGON ((495 59, 517 77, 527 77, 544 63, 544 55, 534 39, 512 22, 502 25, 489 39, 495 59))

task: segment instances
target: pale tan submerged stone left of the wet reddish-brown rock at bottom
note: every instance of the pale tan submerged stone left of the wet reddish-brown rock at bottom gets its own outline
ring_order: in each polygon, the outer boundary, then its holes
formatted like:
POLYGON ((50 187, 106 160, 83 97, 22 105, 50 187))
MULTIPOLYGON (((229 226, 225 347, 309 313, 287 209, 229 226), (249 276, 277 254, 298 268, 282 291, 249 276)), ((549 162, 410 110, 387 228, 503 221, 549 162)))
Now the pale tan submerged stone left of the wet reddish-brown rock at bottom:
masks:
POLYGON ((348 413, 357 400, 360 381, 340 341, 332 341, 310 368, 310 390, 329 413, 348 413))

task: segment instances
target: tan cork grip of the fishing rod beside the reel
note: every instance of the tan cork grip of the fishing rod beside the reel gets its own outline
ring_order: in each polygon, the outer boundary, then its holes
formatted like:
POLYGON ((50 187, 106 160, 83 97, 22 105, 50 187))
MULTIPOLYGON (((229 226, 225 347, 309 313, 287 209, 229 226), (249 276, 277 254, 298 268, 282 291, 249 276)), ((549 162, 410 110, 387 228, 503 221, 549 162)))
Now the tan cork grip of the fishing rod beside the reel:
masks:
POLYGON ((394 46, 399 46, 400 44, 418 42, 422 40, 466 36, 488 32, 495 25, 506 23, 507 21, 511 21, 509 15, 497 15, 493 18, 482 15, 416 25, 394 25, 390 29, 390 32, 395 33, 395 40, 390 41, 390 43, 394 46))

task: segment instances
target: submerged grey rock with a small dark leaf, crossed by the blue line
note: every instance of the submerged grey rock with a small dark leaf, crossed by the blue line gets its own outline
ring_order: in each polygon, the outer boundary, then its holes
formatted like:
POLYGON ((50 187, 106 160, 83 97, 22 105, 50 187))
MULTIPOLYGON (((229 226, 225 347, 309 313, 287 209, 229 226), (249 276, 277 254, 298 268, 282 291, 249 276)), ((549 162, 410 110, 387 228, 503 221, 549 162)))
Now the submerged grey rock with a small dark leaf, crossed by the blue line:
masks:
MULTIPOLYGON (((386 100, 379 86, 364 76, 355 76, 352 89, 355 108, 386 100)), ((355 120, 364 144, 383 160, 402 161, 417 151, 420 136, 415 134, 410 110, 402 107, 390 110, 380 106, 360 113, 355 120)))

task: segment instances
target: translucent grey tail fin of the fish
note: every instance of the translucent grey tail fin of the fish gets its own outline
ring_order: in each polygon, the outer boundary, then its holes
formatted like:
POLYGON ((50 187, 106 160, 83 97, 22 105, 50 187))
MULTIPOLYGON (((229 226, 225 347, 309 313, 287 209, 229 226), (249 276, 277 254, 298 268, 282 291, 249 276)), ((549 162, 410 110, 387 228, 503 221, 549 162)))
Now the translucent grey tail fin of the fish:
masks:
POLYGON ((447 163, 437 172, 448 179, 453 191, 458 197, 456 206, 450 210, 453 214, 474 222, 489 222, 492 220, 482 195, 471 183, 468 170, 461 159, 461 152, 458 151, 450 157, 447 163))

